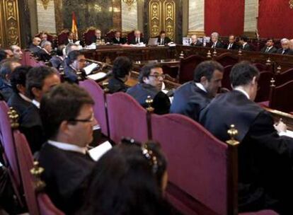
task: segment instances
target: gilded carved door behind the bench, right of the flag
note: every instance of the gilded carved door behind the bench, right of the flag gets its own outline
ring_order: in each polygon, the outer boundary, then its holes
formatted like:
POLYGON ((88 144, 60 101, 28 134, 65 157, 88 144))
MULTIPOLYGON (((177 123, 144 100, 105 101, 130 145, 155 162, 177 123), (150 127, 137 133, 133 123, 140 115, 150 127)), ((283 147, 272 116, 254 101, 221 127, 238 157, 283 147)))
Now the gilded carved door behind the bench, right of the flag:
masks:
POLYGON ((161 30, 171 40, 176 35, 176 2, 171 0, 149 1, 149 36, 156 37, 161 30))

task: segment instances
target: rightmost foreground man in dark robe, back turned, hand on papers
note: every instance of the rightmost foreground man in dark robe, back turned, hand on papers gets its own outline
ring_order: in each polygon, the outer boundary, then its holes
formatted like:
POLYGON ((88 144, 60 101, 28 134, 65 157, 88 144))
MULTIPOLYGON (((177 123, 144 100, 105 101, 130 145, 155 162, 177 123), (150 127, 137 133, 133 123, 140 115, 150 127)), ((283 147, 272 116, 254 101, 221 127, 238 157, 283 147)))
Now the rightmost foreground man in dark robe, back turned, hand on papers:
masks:
POLYGON ((230 139, 231 124, 238 129, 240 211, 270 208, 292 214, 293 139, 280 136, 285 124, 276 125, 253 102, 259 76, 252 64, 236 64, 230 75, 234 90, 214 98, 200 113, 200 123, 222 141, 230 139))

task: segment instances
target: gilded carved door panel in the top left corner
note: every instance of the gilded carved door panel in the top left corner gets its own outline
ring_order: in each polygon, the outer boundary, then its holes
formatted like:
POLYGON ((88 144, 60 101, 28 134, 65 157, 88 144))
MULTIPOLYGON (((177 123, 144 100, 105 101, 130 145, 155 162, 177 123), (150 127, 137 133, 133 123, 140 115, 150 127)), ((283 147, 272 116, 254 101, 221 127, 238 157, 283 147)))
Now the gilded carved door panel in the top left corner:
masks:
POLYGON ((21 45, 17 0, 0 1, 0 41, 3 47, 21 45))

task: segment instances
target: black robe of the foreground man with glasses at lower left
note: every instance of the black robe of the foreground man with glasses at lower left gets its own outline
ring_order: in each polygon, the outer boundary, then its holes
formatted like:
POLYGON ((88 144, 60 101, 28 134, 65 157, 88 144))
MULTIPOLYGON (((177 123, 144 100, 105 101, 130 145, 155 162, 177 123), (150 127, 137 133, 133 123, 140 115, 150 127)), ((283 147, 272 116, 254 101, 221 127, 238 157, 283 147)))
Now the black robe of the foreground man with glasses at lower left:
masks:
POLYGON ((42 179, 47 185, 46 193, 54 205, 65 214, 74 214, 84 201, 95 161, 88 154, 64 151, 45 143, 40 150, 39 162, 45 169, 42 179))

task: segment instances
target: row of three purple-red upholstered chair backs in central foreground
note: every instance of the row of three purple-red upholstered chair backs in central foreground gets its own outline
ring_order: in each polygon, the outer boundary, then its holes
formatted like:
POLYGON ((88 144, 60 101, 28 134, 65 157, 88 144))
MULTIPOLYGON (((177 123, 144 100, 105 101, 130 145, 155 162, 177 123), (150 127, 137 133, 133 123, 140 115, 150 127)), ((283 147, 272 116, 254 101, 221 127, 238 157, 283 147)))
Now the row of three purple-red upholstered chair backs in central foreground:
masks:
POLYGON ((183 214, 238 214, 236 141, 223 143, 183 115, 155 115, 130 95, 107 94, 94 81, 80 86, 93 96, 94 115, 115 143, 125 136, 161 144, 168 159, 167 196, 183 214))

